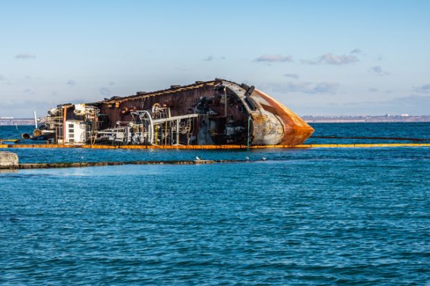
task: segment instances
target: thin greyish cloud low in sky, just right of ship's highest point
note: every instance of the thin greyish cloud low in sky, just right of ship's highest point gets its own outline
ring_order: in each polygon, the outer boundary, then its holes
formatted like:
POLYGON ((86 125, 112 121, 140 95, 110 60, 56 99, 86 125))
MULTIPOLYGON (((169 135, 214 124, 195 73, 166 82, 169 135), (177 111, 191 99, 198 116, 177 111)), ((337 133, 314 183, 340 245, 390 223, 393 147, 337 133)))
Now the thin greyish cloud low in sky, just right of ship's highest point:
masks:
POLYGON ((336 93, 339 84, 337 82, 288 82, 286 84, 270 84, 273 91, 279 93, 336 93))

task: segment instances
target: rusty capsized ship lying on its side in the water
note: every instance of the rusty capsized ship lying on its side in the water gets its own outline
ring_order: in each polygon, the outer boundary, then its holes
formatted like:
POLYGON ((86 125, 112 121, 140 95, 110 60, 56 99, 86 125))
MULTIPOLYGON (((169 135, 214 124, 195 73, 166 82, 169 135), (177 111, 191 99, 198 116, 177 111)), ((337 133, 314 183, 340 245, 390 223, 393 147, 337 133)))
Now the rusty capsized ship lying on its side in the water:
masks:
POLYGON ((216 78, 98 102, 58 105, 40 119, 33 136, 73 145, 249 146, 298 145, 313 131, 263 91, 216 78))

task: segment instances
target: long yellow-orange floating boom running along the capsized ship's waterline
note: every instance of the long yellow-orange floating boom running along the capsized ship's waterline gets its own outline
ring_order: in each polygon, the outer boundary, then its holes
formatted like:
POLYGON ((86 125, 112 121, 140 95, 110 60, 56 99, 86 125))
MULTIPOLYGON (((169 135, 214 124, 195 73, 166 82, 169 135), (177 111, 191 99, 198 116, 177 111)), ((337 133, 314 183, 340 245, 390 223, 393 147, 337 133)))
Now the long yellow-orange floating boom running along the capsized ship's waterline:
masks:
MULTIPOLYGON (((302 145, 256 145, 250 149, 300 149, 300 148, 390 148, 390 147, 430 147, 430 143, 368 143, 368 144, 302 144, 302 145)), ((223 150, 247 149, 246 145, 54 145, 54 144, 3 144, 1 148, 85 148, 85 149, 184 149, 184 150, 223 150)))

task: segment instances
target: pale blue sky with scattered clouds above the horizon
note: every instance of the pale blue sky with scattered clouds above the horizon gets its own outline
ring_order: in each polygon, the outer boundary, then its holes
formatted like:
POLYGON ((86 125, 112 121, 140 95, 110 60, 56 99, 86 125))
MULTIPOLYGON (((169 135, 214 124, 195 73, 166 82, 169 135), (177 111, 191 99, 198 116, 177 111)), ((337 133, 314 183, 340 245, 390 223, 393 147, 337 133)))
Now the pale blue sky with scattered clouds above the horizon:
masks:
POLYGON ((0 116, 226 78, 300 115, 430 114, 430 1, 1 1, 0 116))

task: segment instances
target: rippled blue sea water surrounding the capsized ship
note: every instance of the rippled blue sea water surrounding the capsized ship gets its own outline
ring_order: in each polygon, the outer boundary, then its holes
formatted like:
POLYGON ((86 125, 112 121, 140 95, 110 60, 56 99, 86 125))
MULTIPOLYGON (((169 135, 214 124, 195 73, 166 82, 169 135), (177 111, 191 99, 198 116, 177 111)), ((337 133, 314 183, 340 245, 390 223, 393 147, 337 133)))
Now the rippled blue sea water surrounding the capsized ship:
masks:
MULTIPOLYGON (((430 138, 430 123, 313 127, 430 138)), ((21 163, 266 161, 3 171, 0 285, 430 285, 427 147, 4 150, 21 163)))

